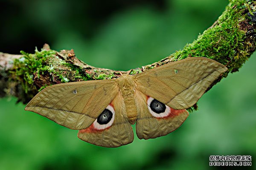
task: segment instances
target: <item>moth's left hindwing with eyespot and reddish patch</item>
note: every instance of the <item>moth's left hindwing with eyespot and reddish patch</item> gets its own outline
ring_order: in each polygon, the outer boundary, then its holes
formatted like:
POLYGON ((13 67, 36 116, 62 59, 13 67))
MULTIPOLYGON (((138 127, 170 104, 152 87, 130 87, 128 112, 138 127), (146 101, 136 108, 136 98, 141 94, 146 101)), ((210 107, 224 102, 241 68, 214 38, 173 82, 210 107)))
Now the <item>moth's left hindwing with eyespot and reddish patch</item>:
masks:
POLYGON ((126 115, 122 95, 119 93, 106 109, 93 124, 79 130, 78 137, 104 147, 119 147, 131 143, 134 133, 126 115))

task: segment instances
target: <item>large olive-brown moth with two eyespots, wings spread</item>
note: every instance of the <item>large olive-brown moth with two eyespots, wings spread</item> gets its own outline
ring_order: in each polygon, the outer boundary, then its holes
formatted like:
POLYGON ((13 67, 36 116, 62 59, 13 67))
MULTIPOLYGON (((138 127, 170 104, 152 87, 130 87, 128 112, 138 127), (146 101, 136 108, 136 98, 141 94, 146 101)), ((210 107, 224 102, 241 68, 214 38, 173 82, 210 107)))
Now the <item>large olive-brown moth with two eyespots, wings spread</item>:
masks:
POLYGON ((227 68, 204 57, 190 57, 117 79, 52 85, 26 105, 78 137, 103 147, 156 138, 176 130, 209 85, 227 68))

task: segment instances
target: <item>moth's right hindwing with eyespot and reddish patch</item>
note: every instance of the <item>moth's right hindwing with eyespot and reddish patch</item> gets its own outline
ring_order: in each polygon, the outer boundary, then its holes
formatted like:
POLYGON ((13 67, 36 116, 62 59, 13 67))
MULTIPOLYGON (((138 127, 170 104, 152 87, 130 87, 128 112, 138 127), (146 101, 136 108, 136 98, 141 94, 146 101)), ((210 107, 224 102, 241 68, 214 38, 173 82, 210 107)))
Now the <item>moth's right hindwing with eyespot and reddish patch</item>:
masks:
POLYGON ((165 136, 176 130, 189 116, 186 109, 175 110, 156 99, 146 96, 140 91, 135 91, 137 108, 136 133, 139 139, 150 139, 165 136), (155 110, 156 102, 160 110, 155 110))

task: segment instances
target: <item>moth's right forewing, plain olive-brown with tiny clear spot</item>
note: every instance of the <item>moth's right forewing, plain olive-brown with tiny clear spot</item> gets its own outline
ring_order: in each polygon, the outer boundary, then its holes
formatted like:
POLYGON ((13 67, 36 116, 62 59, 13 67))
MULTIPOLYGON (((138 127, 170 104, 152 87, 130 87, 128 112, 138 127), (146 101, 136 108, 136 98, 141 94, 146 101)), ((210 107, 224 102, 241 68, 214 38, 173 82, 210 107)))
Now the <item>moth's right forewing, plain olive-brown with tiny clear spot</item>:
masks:
POLYGON ((134 76, 136 88, 169 107, 180 110, 194 105, 227 68, 208 58, 191 57, 134 76))

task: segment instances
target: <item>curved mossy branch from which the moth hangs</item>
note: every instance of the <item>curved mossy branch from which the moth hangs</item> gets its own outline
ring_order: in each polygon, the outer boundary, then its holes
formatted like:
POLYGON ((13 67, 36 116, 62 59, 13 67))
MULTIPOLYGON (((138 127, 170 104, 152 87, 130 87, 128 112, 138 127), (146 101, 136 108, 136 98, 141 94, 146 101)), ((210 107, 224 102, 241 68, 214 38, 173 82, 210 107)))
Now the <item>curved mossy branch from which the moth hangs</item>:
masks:
MULTIPOLYGON (((187 57, 207 57, 226 65, 229 72, 238 71, 256 47, 256 3, 251 0, 230 0, 223 14, 198 39, 159 62, 130 71, 95 68, 77 59, 73 50, 60 52, 44 45, 35 54, 0 53, 0 96, 17 96, 28 102, 38 91, 61 82, 113 79, 122 74, 137 74, 159 65, 187 57)), ((212 87, 211 85, 211 87, 212 87)), ((210 88, 211 88, 210 87, 210 88)), ((209 90, 209 89, 208 89, 209 90)))

